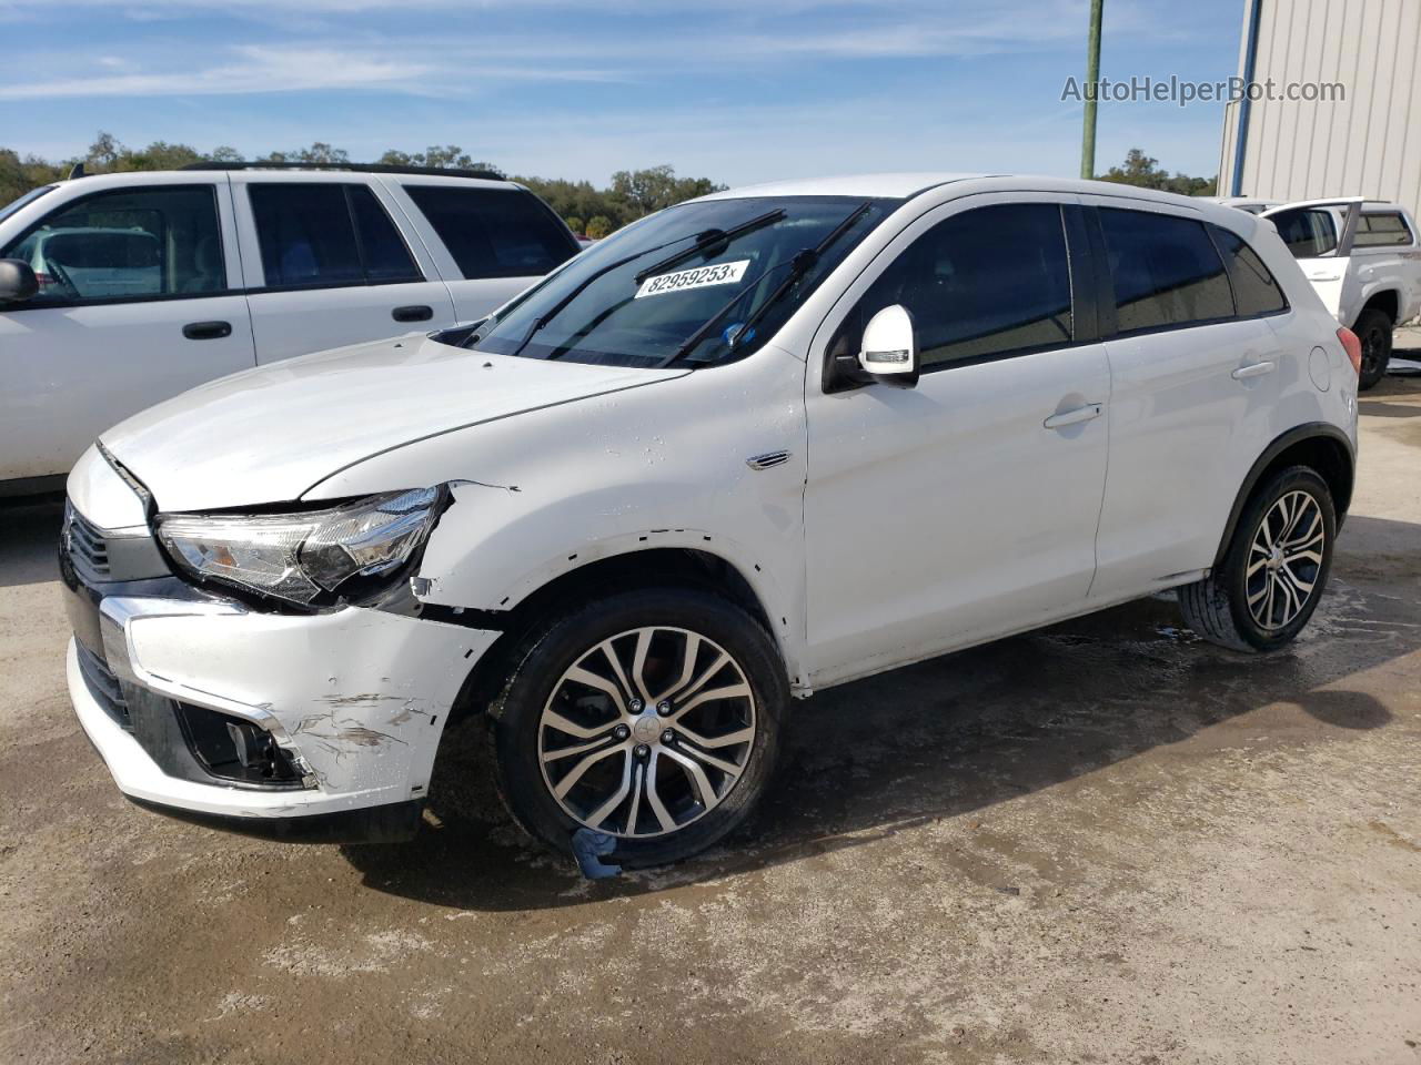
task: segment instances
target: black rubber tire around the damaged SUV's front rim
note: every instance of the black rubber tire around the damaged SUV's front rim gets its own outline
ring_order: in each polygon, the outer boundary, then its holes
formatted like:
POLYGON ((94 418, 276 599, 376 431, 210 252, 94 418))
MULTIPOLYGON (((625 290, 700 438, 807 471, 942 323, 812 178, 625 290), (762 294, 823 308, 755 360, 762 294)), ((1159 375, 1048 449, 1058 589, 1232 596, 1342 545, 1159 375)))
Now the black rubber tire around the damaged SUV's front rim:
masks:
MULTIPOLYGON (((753 696, 755 736, 740 748, 742 770, 718 805, 664 835, 632 838, 612 832, 615 849, 601 861, 639 868, 705 851, 745 821, 773 770, 789 683, 774 642, 755 618, 713 592, 688 588, 631 591, 588 602, 524 640, 513 655, 514 667, 502 694, 490 706, 503 799, 524 829, 564 855, 573 852, 574 832, 587 825, 564 809, 544 778, 539 746, 544 707, 564 673, 591 649, 648 626, 695 632, 732 656, 753 696)), ((627 765, 634 764, 632 755, 622 757, 627 765)), ((642 761, 644 770, 654 765, 642 761)), ((637 815, 628 807, 621 816, 637 815)))

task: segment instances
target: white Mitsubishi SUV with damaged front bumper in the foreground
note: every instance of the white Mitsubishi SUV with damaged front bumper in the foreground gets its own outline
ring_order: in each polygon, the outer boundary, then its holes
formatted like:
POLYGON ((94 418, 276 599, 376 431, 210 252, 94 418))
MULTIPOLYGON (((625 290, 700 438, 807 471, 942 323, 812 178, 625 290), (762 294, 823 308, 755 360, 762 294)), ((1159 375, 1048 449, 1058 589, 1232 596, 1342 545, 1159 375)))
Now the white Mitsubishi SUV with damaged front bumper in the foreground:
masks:
POLYGON ((416 828, 483 714, 517 818, 644 865, 762 794, 791 696, 1178 589, 1306 625, 1356 338, 1272 226, 887 175, 718 193, 476 325, 249 371, 70 477, 74 706, 118 787, 416 828))

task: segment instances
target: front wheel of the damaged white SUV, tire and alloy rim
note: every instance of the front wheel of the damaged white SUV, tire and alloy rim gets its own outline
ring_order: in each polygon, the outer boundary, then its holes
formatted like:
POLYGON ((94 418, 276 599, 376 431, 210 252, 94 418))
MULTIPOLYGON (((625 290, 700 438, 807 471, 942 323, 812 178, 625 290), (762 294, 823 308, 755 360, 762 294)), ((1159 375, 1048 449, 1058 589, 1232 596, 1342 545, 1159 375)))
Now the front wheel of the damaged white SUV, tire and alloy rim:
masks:
POLYGON ((789 701, 764 628, 725 599, 652 589, 588 602, 514 653, 490 707, 499 785, 533 835, 605 863, 675 862, 739 825, 770 777, 789 701))

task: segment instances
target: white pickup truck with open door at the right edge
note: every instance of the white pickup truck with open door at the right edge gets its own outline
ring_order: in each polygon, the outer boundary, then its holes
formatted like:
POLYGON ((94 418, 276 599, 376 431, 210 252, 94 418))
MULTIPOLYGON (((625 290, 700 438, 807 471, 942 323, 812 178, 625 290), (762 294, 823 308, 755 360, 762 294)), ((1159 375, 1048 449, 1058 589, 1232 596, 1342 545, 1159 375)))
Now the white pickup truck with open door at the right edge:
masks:
POLYGON ((1337 321, 1361 341, 1366 390, 1387 372, 1391 332, 1421 314, 1421 243, 1405 207, 1360 196, 1262 212, 1337 321))

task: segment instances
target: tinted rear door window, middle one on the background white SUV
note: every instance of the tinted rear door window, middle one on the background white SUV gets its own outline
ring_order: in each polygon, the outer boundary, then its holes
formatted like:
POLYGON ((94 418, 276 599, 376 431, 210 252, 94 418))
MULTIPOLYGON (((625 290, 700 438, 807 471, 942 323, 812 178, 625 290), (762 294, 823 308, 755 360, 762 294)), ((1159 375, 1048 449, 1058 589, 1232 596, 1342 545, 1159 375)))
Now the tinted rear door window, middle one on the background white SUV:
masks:
POLYGON ((409 248, 364 185, 249 185, 267 288, 422 281, 409 248))

